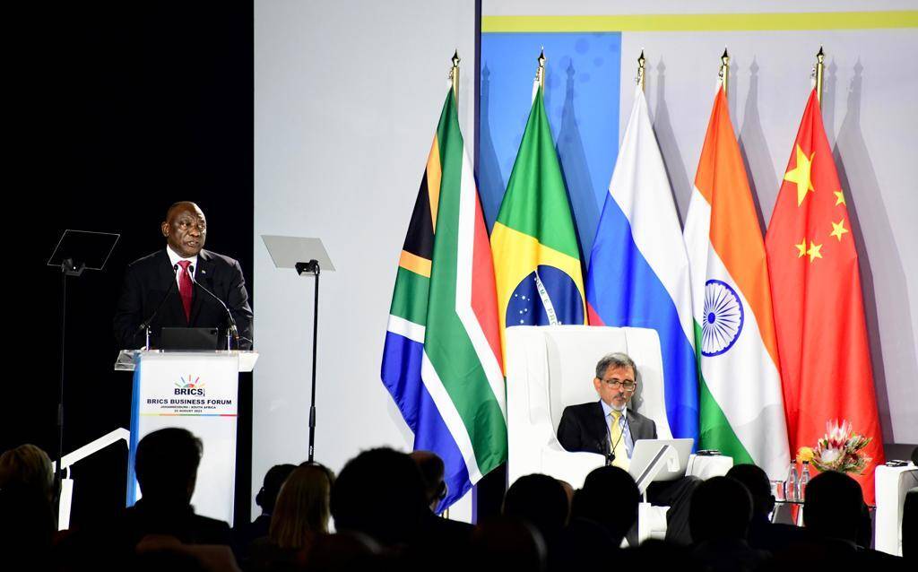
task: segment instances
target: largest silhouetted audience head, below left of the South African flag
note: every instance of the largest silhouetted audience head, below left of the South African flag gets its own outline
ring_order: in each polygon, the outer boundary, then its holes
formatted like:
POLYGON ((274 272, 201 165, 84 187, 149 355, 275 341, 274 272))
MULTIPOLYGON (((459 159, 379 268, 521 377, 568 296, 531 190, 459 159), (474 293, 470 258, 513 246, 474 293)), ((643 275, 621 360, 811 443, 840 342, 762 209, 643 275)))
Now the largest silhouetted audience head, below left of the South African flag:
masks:
POLYGON ((426 511, 418 465, 389 448, 355 456, 331 488, 335 528, 367 534, 381 544, 410 542, 426 511))

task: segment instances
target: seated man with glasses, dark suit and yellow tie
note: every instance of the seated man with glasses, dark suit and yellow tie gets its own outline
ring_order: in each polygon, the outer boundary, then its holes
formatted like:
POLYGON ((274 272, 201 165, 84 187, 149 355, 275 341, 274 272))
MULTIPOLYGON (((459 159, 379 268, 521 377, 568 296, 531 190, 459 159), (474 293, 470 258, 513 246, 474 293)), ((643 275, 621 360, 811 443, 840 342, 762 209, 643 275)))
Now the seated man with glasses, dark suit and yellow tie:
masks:
MULTIPOLYGON (((656 439, 656 423, 628 403, 637 389, 637 367, 625 353, 610 353, 596 365, 593 387, 599 401, 571 405, 561 414, 558 442, 567 451, 586 451, 607 457, 611 465, 628 470, 634 442, 656 439)), ((698 486, 698 477, 651 483, 647 499, 666 512, 666 540, 690 544, 689 499, 698 486)), ((614 494, 614 491, 610 491, 614 494)), ((629 534, 633 540, 633 534, 629 534)))

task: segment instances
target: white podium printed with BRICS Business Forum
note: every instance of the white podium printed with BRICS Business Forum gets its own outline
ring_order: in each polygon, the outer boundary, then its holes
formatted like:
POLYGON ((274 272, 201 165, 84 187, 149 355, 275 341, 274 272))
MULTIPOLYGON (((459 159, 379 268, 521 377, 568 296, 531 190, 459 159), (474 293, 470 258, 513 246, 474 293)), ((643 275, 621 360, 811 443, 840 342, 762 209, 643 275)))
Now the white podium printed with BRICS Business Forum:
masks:
POLYGON ((140 499, 134 473, 144 435, 180 427, 204 444, 191 504, 197 514, 233 520, 239 374, 251 372, 257 352, 123 350, 116 371, 133 371, 127 505, 140 499))

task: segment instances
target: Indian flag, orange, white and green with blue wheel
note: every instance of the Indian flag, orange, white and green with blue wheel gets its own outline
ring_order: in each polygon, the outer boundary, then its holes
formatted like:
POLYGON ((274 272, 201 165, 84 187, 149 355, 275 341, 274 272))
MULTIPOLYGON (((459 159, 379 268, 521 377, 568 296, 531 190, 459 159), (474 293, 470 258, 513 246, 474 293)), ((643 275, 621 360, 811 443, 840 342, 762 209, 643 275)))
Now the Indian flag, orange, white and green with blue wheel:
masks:
POLYGON ((720 86, 684 237, 700 372, 700 447, 783 478, 788 432, 765 245, 720 86))

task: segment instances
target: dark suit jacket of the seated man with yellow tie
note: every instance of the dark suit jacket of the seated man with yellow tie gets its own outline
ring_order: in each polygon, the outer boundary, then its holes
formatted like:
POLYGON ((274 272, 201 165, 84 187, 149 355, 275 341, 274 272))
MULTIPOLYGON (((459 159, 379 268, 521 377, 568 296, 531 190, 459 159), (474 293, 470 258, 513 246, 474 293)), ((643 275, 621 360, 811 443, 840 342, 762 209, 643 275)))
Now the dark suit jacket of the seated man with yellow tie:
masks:
MULTIPOLYGON (((656 423, 628 408, 628 429, 632 439, 656 439, 656 423)), ((558 424, 558 441, 568 451, 606 454, 609 426, 599 401, 565 407, 558 424)))

